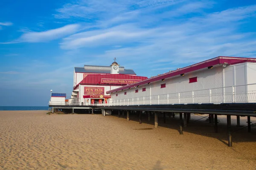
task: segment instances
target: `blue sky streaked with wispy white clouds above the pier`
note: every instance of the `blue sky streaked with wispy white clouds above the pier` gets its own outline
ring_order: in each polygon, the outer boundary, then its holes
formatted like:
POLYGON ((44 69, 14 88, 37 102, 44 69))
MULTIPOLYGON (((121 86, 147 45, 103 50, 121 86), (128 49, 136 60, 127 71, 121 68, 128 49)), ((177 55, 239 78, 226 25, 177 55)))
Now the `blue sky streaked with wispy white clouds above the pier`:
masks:
POLYGON ((217 56, 255 57, 254 0, 1 0, 0 105, 45 106, 73 68, 113 58, 151 77, 217 56))

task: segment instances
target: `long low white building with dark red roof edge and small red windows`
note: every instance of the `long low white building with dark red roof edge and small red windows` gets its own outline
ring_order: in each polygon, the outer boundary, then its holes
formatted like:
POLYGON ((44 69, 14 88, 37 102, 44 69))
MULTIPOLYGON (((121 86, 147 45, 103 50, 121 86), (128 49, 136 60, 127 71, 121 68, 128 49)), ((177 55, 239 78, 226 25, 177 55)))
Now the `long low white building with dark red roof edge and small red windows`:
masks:
POLYGON ((107 91, 107 105, 256 102, 256 59, 216 57, 107 91))

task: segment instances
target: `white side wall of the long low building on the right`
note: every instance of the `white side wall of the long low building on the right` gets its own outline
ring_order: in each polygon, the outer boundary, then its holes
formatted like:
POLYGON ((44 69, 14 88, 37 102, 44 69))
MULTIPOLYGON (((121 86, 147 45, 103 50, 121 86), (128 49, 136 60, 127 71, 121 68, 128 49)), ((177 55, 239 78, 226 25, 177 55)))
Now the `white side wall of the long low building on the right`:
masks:
MULTIPOLYGON (((212 69, 204 68, 187 73, 182 77, 178 75, 176 77, 165 79, 165 81, 160 80, 158 82, 151 82, 150 85, 141 85, 138 88, 119 91, 118 96, 116 96, 116 93, 113 93, 111 94, 111 100, 118 99, 120 100, 118 102, 122 102, 123 99, 129 99, 130 102, 132 98, 136 101, 137 98, 143 100, 143 97, 144 100, 149 100, 149 96, 151 96, 151 104, 158 104, 158 95, 160 95, 161 103, 167 100, 167 94, 169 94, 169 103, 178 103, 177 93, 180 93, 180 103, 233 102, 233 88, 222 87, 256 83, 256 79, 254 78, 256 77, 255 75, 255 63, 229 65, 226 68, 222 67, 222 65, 215 65, 212 69), (197 77, 197 82, 189 83, 189 78, 192 77, 197 77), (164 83, 166 84, 166 88, 160 88, 160 85, 164 83), (142 91, 142 88, 146 88, 146 91, 142 91), (139 90, 138 93, 135 93, 136 89, 139 90), (127 92, 127 94, 125 95, 124 92, 127 92), (194 96, 200 97, 194 97, 192 99, 192 93, 194 93, 194 96), (212 97, 209 97, 210 93, 212 94, 212 97), (223 94, 225 94, 225 98, 223 97, 223 94), (163 101, 161 101, 161 99, 163 101)), ((250 90, 256 90, 256 86, 250 88, 250 90)), ((235 87, 235 91, 237 93, 245 94, 246 87, 235 87)), ((236 102, 246 102, 245 98, 239 96, 234 100, 236 102)), ((143 103, 139 102, 139 104, 143 103)))

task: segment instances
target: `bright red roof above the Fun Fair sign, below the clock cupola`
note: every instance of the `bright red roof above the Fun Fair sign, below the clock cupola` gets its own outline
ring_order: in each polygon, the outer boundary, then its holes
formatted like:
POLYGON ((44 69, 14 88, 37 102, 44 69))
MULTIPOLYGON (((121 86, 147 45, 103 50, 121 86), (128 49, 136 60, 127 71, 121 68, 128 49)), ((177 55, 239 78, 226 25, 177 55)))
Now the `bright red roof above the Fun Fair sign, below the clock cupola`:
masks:
MULTIPOLYGON (((128 83, 102 83, 102 79, 133 79, 133 80, 145 80, 148 77, 142 76, 131 76, 127 74, 93 74, 88 75, 85 77, 81 82, 80 85, 127 85, 128 83)), ((79 86, 77 84, 73 89, 76 90, 79 86)))

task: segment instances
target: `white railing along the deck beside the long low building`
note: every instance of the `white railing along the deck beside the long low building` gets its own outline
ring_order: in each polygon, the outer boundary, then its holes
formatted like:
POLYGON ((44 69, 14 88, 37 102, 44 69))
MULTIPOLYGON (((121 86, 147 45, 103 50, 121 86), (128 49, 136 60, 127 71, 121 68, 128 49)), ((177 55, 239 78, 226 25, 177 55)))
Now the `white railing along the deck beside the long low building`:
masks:
POLYGON ((108 103, 93 103, 98 106, 120 105, 175 105, 202 103, 256 103, 256 84, 211 88, 197 91, 185 91, 172 94, 142 96, 129 99, 110 100, 108 103))

